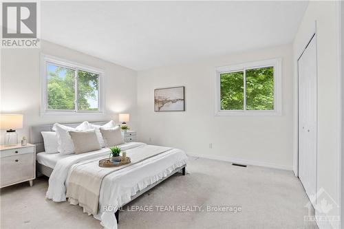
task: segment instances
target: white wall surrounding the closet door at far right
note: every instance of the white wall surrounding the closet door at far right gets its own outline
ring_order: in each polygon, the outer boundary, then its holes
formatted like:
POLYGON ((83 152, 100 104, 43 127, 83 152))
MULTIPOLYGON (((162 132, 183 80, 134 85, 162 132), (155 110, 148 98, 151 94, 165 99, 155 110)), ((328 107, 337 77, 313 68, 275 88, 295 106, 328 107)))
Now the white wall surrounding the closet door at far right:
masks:
MULTIPOLYGON (((317 156, 317 189, 324 188, 328 194, 339 201, 339 145, 340 139, 340 78, 338 58, 338 2, 310 1, 305 12, 297 36, 294 39, 294 76, 297 78, 297 58, 310 40, 314 29, 317 40, 318 61, 318 156, 317 156), (316 21, 316 28, 315 28, 316 21)), ((297 106, 297 103, 295 103, 297 106)), ((295 116, 297 114, 295 113, 295 116)), ((294 123, 294 133, 297 133, 297 122, 294 123)), ((295 135, 297 141, 297 135, 295 135)), ((297 155, 297 145, 295 147, 297 155)), ((295 163, 297 157, 295 157, 295 163)), ((297 164, 295 164, 295 168, 297 164)), ((330 197, 324 196, 328 203, 330 197)), ((320 215, 320 212, 316 212, 320 215)), ((338 216, 339 209, 333 204, 328 216, 338 216)), ((325 223, 325 222, 324 222, 325 223)), ((338 223, 330 221, 333 228, 338 223)), ((325 225, 325 224, 324 224, 325 225)), ((319 223, 320 228, 325 228, 319 223)))

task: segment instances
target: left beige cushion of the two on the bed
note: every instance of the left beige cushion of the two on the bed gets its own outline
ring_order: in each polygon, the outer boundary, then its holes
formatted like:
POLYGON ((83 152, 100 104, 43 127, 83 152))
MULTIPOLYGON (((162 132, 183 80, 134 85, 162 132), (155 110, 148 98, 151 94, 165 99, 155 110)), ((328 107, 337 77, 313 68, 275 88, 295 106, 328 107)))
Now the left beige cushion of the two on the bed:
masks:
POLYGON ((101 149, 94 129, 85 131, 68 131, 75 147, 75 153, 87 153, 101 149))

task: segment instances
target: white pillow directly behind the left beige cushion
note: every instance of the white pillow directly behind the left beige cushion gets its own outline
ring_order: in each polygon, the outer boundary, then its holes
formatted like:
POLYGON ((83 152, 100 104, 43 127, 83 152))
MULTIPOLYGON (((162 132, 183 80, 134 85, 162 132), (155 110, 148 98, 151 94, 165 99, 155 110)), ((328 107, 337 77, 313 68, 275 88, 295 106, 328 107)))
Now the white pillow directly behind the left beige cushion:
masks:
POLYGON ((85 121, 78 125, 78 127, 67 127, 63 124, 55 123, 52 127, 52 130, 56 132, 57 135, 57 142, 58 142, 58 152, 61 154, 72 154, 75 152, 74 144, 72 138, 70 137, 68 131, 83 131, 86 129, 90 129, 88 122, 85 121))

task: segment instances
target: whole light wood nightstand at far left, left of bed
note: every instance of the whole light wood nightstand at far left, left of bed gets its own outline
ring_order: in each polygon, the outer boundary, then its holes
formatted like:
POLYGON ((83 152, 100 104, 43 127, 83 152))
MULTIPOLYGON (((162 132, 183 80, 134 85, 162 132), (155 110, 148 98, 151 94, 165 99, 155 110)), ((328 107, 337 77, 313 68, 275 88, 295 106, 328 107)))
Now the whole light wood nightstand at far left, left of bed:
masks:
POLYGON ((36 148, 33 144, 0 146, 0 188, 36 178, 36 148))

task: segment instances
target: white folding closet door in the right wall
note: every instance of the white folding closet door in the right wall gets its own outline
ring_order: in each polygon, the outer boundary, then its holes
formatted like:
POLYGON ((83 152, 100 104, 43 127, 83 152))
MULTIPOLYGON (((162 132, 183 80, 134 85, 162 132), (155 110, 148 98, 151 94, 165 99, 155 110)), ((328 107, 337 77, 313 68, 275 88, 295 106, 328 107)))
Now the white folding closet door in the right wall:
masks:
POLYGON ((299 178, 316 193, 316 36, 299 58, 299 178))

